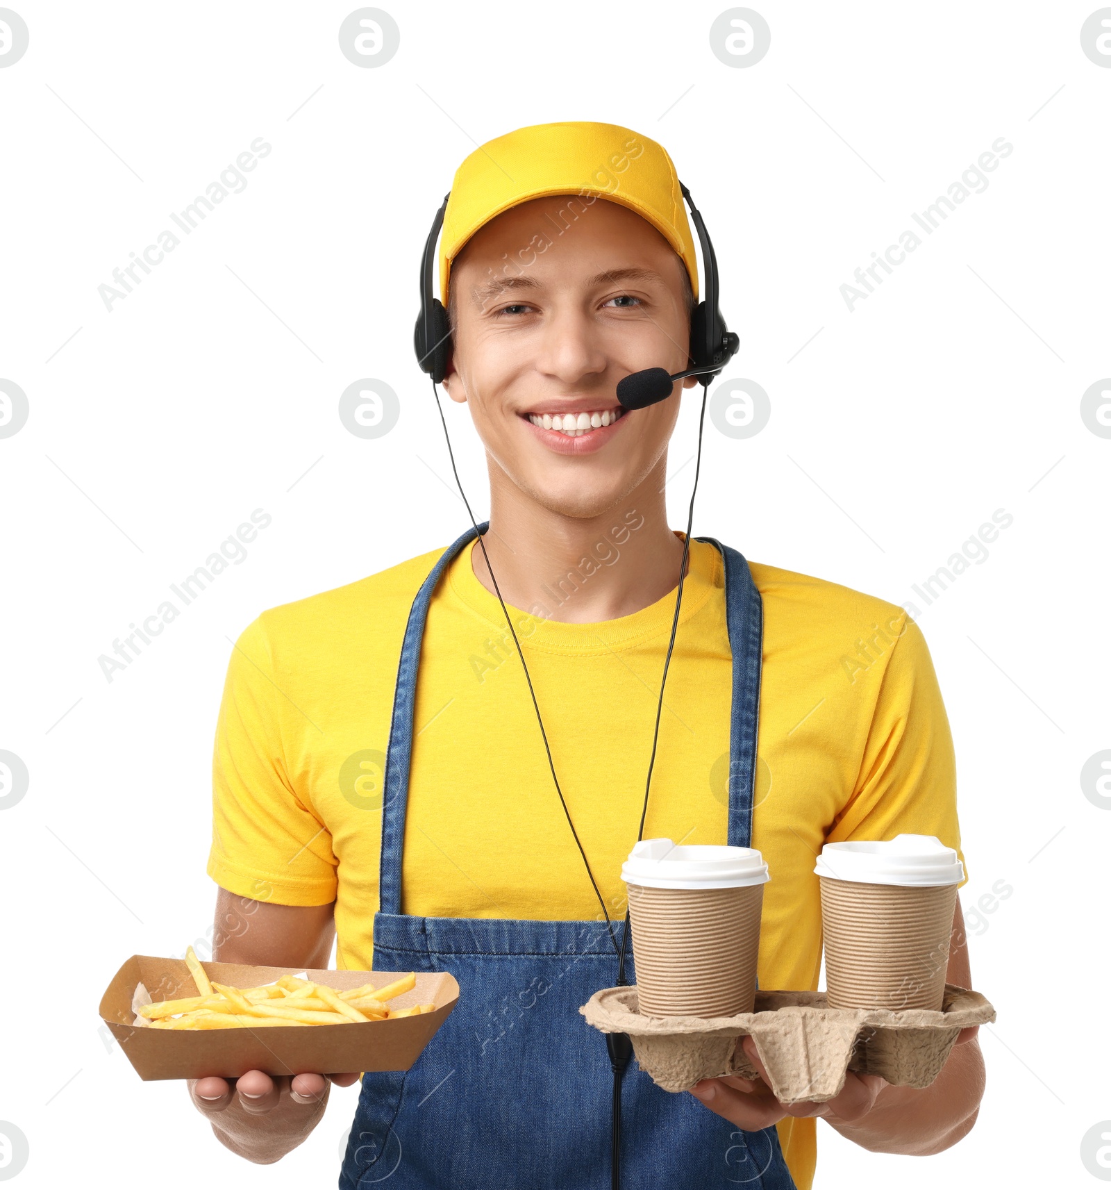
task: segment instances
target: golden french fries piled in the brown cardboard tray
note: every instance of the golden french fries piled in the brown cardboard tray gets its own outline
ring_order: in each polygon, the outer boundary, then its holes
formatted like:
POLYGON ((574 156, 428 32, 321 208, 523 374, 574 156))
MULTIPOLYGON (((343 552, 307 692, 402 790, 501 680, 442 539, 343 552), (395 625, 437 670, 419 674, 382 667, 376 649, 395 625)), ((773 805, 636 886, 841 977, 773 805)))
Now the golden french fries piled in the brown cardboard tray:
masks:
POLYGON ((382 988, 366 983, 337 991, 324 983, 283 975, 262 988, 233 988, 213 983, 193 947, 186 950, 186 965, 197 995, 144 1004, 139 1015, 157 1029, 228 1029, 266 1026, 347 1025, 395 1020, 435 1012, 435 1004, 390 1008, 388 1001, 412 991, 416 975, 410 972, 382 988))

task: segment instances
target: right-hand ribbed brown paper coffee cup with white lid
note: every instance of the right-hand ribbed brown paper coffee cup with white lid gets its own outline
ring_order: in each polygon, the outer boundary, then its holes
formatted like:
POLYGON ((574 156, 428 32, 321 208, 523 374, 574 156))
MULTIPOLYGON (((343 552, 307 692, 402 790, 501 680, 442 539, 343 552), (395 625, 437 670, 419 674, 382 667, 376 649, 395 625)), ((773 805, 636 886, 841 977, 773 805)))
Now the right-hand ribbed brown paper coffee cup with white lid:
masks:
POLYGON ((940 1010, 956 885, 956 852, 931 835, 827 844, 822 895, 830 1008, 940 1010))

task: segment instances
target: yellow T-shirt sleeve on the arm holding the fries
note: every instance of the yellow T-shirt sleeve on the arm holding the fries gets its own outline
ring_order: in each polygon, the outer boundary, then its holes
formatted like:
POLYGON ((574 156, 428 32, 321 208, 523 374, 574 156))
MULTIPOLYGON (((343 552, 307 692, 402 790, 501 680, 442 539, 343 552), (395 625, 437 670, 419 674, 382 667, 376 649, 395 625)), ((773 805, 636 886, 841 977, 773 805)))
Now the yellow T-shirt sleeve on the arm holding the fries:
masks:
POLYGON ((230 892, 276 904, 335 900, 325 823, 290 783, 271 651, 263 618, 232 650, 213 750, 208 875, 230 892))

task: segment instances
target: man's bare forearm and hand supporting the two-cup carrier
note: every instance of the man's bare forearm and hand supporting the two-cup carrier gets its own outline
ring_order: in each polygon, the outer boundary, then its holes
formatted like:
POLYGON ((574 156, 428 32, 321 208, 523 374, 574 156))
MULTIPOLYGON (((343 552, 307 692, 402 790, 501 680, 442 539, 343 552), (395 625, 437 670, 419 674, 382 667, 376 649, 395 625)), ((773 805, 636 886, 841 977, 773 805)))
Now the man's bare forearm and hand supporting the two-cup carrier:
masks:
MULTIPOLYGON (((946 982, 972 987, 960 896, 953 915, 946 982)), ((972 1129, 984 1096, 984 1058, 975 1035, 975 1028, 961 1029, 941 1073, 922 1090, 892 1086, 878 1075, 849 1071, 841 1094, 828 1102, 790 1106, 772 1095, 755 1044, 745 1038, 745 1053, 762 1079, 709 1078, 691 1094, 711 1111, 749 1132, 789 1115, 821 1116, 842 1136, 875 1153, 940 1153, 972 1129)))

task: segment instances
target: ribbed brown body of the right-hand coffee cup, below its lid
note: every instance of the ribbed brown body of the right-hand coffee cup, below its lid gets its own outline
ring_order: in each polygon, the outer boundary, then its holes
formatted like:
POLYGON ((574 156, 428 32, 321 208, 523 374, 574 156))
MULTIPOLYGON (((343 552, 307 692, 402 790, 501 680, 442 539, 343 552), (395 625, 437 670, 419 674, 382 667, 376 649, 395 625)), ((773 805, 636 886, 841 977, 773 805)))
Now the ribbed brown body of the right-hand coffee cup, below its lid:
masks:
POLYGON ((818 879, 829 1007, 939 1010, 956 885, 818 879))

